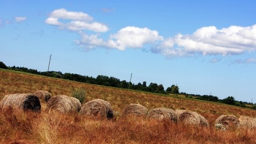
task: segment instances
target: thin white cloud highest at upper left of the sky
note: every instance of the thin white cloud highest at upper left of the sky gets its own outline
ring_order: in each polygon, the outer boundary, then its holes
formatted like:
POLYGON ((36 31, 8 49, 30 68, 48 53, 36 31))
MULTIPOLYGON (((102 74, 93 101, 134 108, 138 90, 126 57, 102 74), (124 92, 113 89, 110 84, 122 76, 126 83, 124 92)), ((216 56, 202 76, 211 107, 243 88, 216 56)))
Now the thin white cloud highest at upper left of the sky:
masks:
POLYGON ((99 22, 92 22, 93 17, 84 12, 69 12, 64 8, 52 11, 49 17, 44 21, 46 24, 58 26, 60 29, 72 31, 92 30, 94 32, 107 32, 108 27, 99 22), (60 19, 70 20, 66 23, 60 22, 60 19))

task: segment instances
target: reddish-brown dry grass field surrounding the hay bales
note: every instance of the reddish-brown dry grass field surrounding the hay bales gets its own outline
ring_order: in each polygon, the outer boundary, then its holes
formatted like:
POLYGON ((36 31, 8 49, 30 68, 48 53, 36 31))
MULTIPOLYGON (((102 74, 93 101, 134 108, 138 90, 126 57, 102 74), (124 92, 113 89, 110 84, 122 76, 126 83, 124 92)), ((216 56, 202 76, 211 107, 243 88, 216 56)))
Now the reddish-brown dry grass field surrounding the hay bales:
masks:
POLYGON ((232 131, 219 131, 214 128, 214 121, 223 114, 255 117, 256 111, 249 108, 0 69, 0 100, 7 94, 33 93, 36 90, 46 90, 51 92, 52 96, 70 96, 76 88, 86 90, 85 102, 96 98, 110 102, 115 118, 100 120, 78 114, 49 113, 45 102, 41 102, 40 113, 0 109, 0 143, 256 143, 256 129, 239 128, 232 131), (142 104, 149 110, 165 107, 173 110, 195 111, 208 120, 210 127, 201 128, 169 121, 160 122, 143 117, 124 119, 120 116, 128 104, 142 104))

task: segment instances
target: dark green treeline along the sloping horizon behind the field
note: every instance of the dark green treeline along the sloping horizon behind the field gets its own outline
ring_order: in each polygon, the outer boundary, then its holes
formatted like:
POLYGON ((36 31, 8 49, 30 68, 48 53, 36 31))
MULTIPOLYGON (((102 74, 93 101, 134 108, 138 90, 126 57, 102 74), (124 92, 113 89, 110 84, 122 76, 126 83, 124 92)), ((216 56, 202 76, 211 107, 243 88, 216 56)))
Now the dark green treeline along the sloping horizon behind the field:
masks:
POLYGON ((49 71, 49 72, 39 72, 36 69, 30 69, 30 68, 24 68, 24 67, 16 67, 16 66, 6 66, 3 62, 0 61, 0 68, 4 69, 10 69, 14 71, 20 71, 20 72, 28 72, 32 74, 37 75, 43 75, 43 76, 49 76, 49 77, 56 77, 60 79, 66 79, 66 80, 73 80, 78 81, 82 83, 88 83, 88 84, 98 84, 98 85, 104 85, 109 87, 115 87, 115 88, 130 88, 133 90, 139 90, 139 91, 145 91, 145 92, 155 92, 155 93, 161 93, 161 94, 180 94, 184 95, 188 98, 195 98, 199 100, 207 100, 207 101, 213 101, 213 102, 219 102, 224 104, 231 104, 236 105, 240 107, 248 107, 256 109, 256 104, 248 103, 248 102, 242 102, 237 101, 233 96, 228 96, 227 98, 220 100, 217 96, 211 96, 211 95, 195 95, 195 94, 187 94, 186 92, 179 92, 179 87, 177 85, 172 85, 171 87, 164 89, 163 84, 156 84, 156 83, 150 83, 147 86, 147 82, 143 81, 142 83, 133 84, 126 80, 120 80, 118 78, 112 77, 112 76, 103 76, 99 75, 96 78, 92 76, 82 76, 79 74, 73 74, 73 73, 62 73, 62 72, 56 72, 56 71, 49 71))

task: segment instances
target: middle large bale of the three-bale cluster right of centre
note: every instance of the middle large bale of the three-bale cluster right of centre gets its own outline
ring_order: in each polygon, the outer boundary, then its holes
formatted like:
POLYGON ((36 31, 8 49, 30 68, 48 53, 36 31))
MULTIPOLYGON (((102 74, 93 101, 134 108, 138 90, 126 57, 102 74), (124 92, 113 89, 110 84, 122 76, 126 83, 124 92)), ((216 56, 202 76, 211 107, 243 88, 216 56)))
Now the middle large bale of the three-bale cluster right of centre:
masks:
POLYGON ((154 108, 148 112, 148 119, 171 120, 177 122, 177 115, 171 108, 154 108))

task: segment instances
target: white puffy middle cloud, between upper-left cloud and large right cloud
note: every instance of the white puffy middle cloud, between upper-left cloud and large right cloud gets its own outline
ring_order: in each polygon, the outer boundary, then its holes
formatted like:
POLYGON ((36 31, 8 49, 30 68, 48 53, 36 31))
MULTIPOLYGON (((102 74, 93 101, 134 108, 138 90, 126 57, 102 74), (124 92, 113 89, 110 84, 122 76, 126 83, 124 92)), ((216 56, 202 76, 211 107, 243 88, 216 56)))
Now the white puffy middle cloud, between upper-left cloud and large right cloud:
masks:
POLYGON ((155 30, 149 28, 125 27, 121 28, 117 33, 109 36, 109 39, 104 41, 98 38, 99 35, 88 36, 81 33, 81 40, 76 40, 77 44, 89 45, 89 48, 107 47, 118 50, 125 50, 127 48, 142 48, 145 44, 154 44, 164 38, 155 30))

